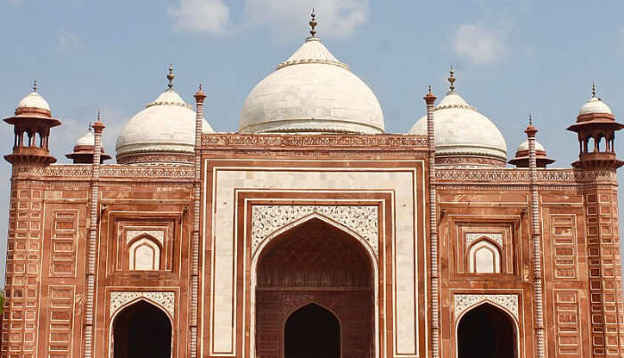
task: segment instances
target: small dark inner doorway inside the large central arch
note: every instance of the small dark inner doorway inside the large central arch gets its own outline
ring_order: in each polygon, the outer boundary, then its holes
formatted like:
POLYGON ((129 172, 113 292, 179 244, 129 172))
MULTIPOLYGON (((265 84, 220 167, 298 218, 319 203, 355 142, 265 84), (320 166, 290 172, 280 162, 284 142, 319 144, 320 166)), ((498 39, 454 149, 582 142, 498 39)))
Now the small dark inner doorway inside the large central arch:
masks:
POLYGON ((295 311, 284 328, 285 358, 340 358, 341 327, 333 313, 309 304, 295 311))

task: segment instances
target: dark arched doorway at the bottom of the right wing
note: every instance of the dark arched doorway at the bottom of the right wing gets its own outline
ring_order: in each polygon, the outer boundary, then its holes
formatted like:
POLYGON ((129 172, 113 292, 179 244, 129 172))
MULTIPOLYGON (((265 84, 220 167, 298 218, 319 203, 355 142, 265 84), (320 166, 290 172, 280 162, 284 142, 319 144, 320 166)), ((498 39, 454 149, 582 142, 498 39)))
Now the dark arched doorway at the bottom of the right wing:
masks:
POLYGON ((457 326, 458 358, 517 358, 512 317, 485 303, 464 314, 457 326))

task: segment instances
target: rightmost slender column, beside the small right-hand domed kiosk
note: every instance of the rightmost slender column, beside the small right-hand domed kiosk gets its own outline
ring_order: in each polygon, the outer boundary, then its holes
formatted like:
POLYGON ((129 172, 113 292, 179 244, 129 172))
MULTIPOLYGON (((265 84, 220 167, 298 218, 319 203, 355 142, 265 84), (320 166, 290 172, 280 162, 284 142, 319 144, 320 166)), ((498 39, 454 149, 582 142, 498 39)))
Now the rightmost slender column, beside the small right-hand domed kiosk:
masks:
POLYGON ((538 129, 533 126, 533 118, 529 116, 529 126, 524 131, 529 139, 529 170, 530 170, 530 214, 531 239, 533 258, 533 321, 535 322, 535 349, 538 358, 544 358, 544 286, 542 279, 542 238, 539 227, 538 169, 535 153, 535 134, 538 129))

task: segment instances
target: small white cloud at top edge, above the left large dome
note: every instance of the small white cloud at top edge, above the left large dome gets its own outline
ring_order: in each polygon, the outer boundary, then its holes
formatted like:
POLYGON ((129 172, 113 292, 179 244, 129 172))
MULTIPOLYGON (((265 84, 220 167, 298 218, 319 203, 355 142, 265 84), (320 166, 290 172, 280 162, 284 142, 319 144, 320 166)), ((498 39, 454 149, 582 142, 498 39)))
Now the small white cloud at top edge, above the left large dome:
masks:
POLYGON ((223 0, 181 0, 168 12, 176 20, 174 28, 182 31, 223 34, 230 23, 230 8, 223 0))

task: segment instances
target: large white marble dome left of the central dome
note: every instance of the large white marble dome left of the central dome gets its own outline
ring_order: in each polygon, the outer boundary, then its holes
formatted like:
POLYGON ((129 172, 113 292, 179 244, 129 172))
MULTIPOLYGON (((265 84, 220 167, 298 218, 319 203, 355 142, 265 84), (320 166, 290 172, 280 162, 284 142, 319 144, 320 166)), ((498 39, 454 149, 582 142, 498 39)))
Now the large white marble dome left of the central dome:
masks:
MULTIPOLYGON (((203 133, 214 132, 203 120, 203 133)), ((169 88, 136 113, 121 129, 115 149, 117 157, 149 152, 193 153, 195 111, 169 88)))

